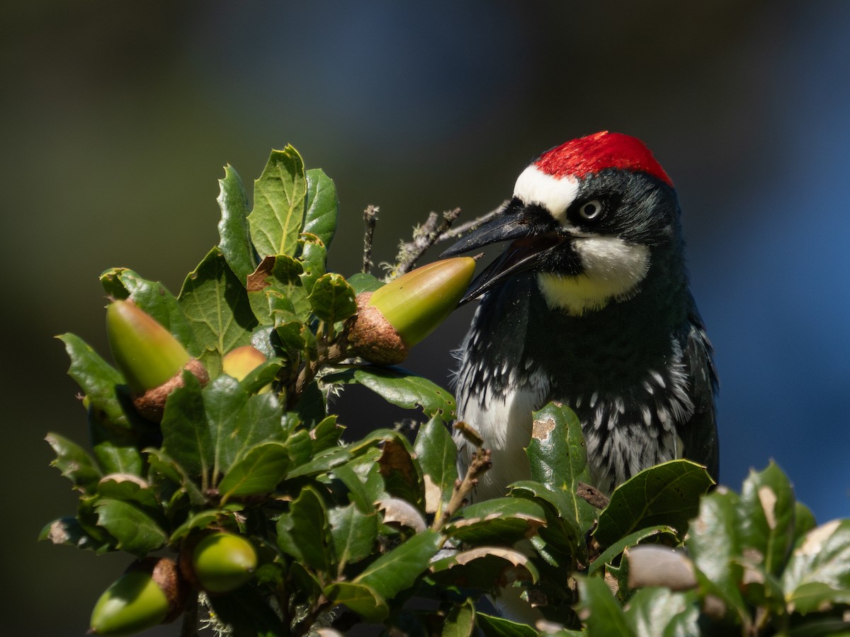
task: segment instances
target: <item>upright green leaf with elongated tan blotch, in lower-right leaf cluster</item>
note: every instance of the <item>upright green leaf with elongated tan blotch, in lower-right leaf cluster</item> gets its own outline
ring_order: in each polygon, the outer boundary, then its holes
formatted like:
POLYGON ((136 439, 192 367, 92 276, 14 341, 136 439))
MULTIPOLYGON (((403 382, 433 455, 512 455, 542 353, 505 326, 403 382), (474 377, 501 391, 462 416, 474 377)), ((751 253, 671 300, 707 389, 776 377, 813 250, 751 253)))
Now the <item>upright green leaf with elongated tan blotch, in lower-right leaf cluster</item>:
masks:
POLYGON ((791 482, 771 461, 764 471, 751 471, 740 497, 740 541, 763 556, 764 569, 779 575, 794 540, 796 501, 791 482))

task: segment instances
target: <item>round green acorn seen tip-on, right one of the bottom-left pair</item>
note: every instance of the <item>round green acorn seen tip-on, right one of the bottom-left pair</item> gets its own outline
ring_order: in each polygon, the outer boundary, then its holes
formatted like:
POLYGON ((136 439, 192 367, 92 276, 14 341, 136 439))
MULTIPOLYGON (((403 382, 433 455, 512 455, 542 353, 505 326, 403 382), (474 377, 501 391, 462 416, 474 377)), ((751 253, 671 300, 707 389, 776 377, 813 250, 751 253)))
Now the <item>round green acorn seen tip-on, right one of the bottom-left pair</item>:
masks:
POLYGON ((196 544, 187 543, 180 555, 180 567, 195 586, 220 595, 251 581, 257 569, 257 550, 241 535, 216 531, 196 544))

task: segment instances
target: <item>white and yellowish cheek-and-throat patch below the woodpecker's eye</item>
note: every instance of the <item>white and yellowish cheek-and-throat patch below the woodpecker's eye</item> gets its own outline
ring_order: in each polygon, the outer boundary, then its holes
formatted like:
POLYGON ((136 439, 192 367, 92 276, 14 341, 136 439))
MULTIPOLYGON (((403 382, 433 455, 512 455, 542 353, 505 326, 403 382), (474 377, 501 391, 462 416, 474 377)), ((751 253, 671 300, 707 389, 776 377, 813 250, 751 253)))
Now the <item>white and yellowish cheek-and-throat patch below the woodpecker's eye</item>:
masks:
POLYGON ((649 272, 649 248, 620 237, 581 237, 573 243, 582 273, 564 276, 538 273, 537 282, 549 307, 575 316, 599 310, 611 301, 638 293, 649 272))

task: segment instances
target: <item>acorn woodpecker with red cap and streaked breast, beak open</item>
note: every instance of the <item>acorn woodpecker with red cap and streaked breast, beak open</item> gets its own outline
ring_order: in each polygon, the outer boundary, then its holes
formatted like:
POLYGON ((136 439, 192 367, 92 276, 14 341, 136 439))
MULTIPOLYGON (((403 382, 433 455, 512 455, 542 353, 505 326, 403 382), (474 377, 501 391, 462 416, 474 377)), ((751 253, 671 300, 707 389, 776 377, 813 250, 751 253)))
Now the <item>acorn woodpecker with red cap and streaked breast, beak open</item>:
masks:
MULTIPOLYGON (((531 412, 575 411, 594 486, 686 457, 717 479, 717 374, 689 290, 671 178, 637 138, 598 132, 532 161, 496 216, 443 256, 498 241, 458 351, 458 420, 492 451, 475 499, 527 479, 531 412)), ((460 463, 472 445, 456 434, 460 463)), ((464 468, 465 470, 465 468, 464 468)))

